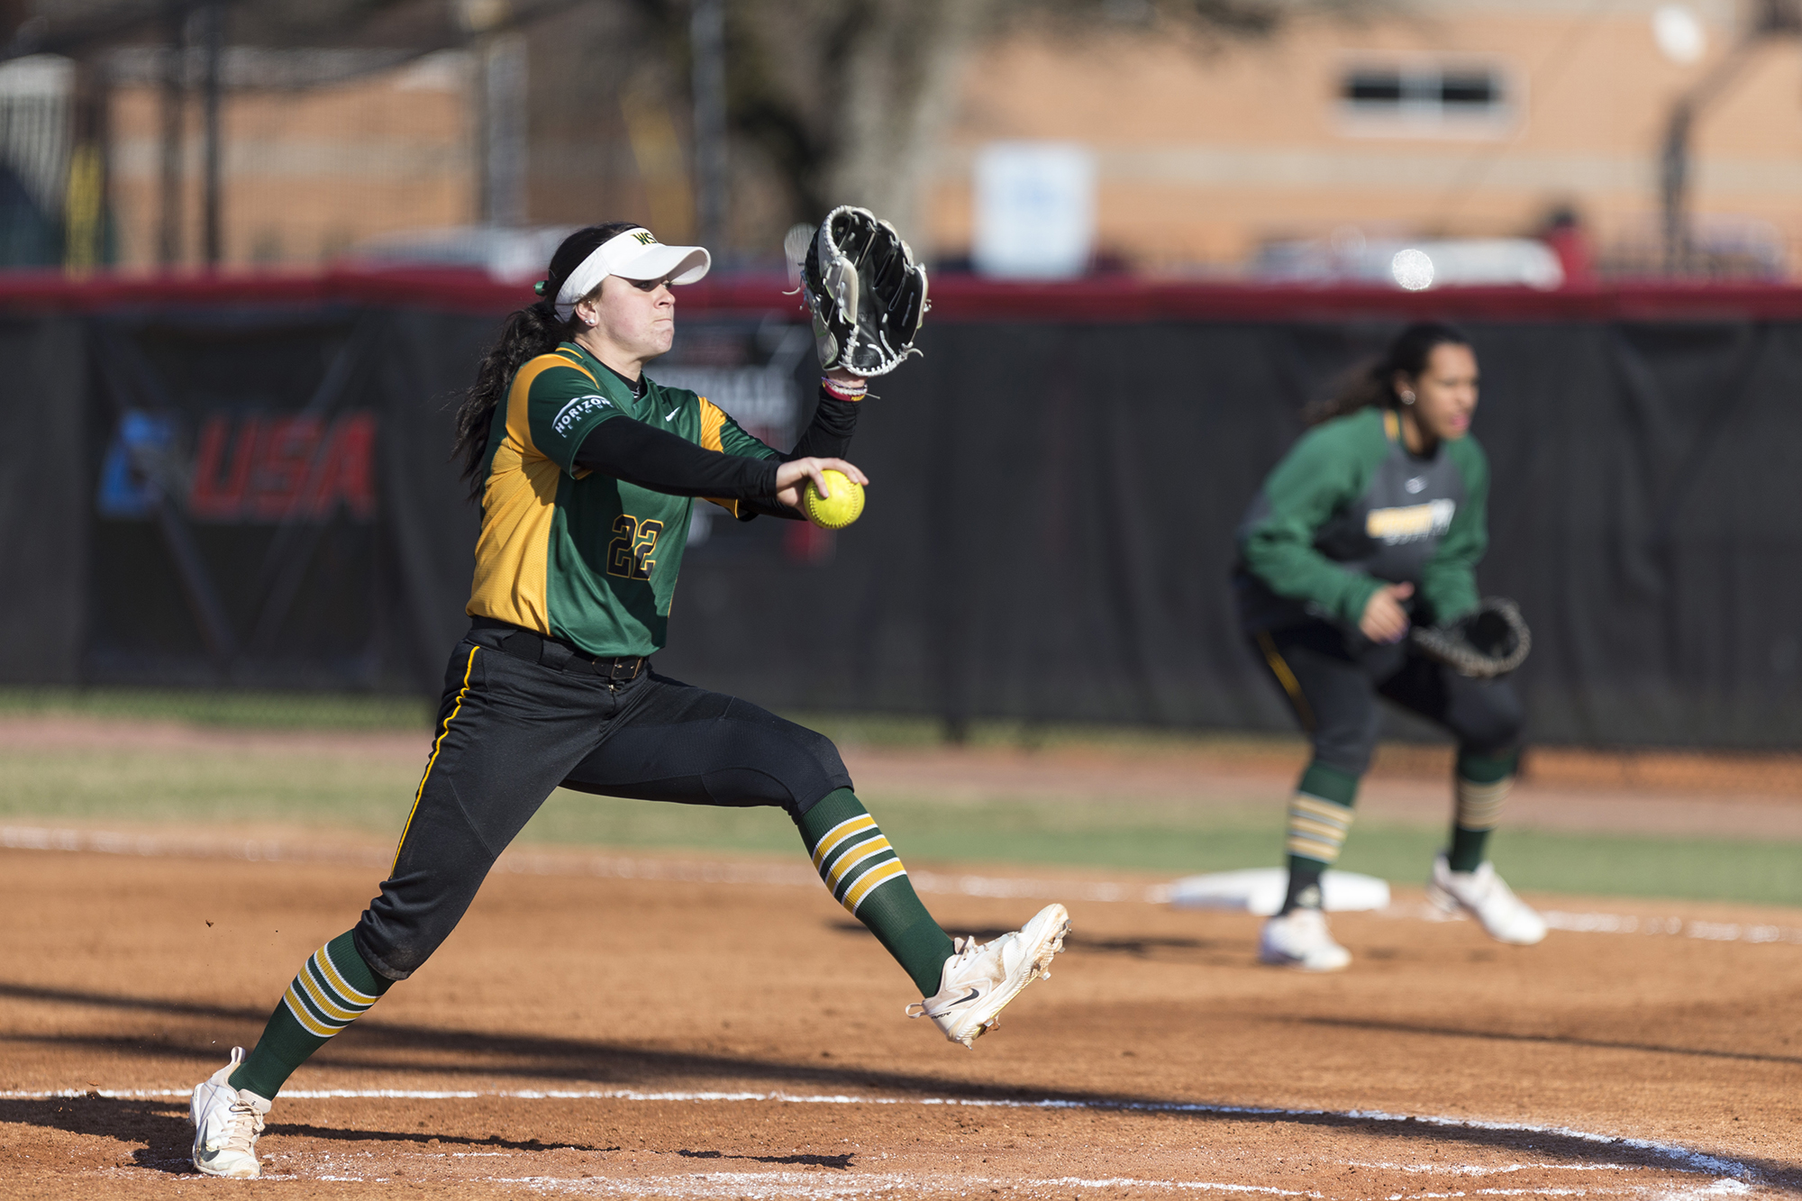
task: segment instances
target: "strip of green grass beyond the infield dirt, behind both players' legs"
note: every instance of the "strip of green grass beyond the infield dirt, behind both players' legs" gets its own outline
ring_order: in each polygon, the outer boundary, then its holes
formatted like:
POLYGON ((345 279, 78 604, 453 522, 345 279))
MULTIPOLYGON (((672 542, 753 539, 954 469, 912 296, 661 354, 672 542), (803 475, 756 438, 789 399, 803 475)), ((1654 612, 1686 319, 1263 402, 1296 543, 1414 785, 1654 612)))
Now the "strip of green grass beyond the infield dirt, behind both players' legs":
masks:
MULTIPOLYGON (((303 824, 393 837, 420 761, 287 750, 9 750, 0 756, 5 822, 303 824)), ((915 862, 989 862, 1168 875, 1281 862, 1279 804, 1204 808, 1159 799, 867 797, 915 862)), ((577 846, 795 855, 777 810, 717 810, 555 793, 523 840, 577 846)), ((1425 878, 1438 826, 1361 822, 1341 862, 1402 884, 1425 878)), ((1519 889, 1595 896, 1802 905, 1802 844, 1503 830, 1496 864, 1519 889)))

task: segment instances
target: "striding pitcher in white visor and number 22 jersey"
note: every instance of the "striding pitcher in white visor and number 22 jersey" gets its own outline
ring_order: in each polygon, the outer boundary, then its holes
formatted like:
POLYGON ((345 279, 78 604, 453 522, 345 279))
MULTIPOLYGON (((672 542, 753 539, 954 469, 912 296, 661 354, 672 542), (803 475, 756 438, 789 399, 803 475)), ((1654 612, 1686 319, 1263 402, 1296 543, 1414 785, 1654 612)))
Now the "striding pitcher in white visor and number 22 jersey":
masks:
MULTIPOLYGON (((288 1075, 450 934, 488 867, 559 784, 688 804, 787 810, 833 896, 923 994, 908 1008, 953 1042, 980 1035, 1061 950, 1047 905, 989 943, 953 941, 851 792, 824 736, 651 671, 665 642, 694 498, 739 518, 795 516, 820 472, 863 472, 851 444, 861 379, 822 379, 791 454, 643 366, 670 348, 672 285, 708 252, 642 227, 571 234, 508 317, 458 411, 481 501, 469 635, 450 655, 436 738, 395 864, 351 931, 288 985, 249 1057, 195 1087, 195 1167, 256 1176, 256 1136, 288 1075)), ((798 994, 804 995, 804 994, 798 994)))

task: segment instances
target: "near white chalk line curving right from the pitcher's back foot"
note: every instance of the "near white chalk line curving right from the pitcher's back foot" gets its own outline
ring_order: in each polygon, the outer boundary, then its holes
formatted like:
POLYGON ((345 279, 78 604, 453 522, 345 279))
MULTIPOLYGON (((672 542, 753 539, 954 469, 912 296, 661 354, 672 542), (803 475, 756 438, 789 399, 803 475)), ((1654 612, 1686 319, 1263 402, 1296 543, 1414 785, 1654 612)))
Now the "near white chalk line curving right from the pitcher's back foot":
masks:
MULTIPOLYGON (((187 1096, 186 1089, 49 1089, 0 1091, 0 1100, 63 1100, 79 1096, 105 1096, 114 1100, 187 1096)), ((1418 1122, 1460 1131, 1496 1131, 1508 1134, 1553 1134, 1584 1143, 1606 1143, 1629 1147, 1665 1161, 1672 1170, 1696 1172, 1716 1178, 1748 1179, 1757 1172, 1737 1160, 1710 1156, 1690 1151, 1676 1143, 1661 1143, 1649 1138, 1618 1138, 1615 1134, 1593 1134, 1564 1125, 1539 1125, 1530 1122, 1483 1122, 1479 1118, 1445 1118, 1433 1114, 1402 1114, 1384 1109, 1283 1109, 1274 1105, 1218 1105, 1209 1102, 1128 1102, 1128 1100, 989 1100, 975 1096, 856 1096, 847 1093, 750 1093, 750 1091, 663 1091, 647 1093, 642 1089, 285 1089, 288 1100, 627 1100, 627 1102, 780 1102, 791 1105, 957 1105, 968 1109, 1074 1109, 1097 1113, 1168 1113, 1168 1114, 1220 1114, 1254 1118, 1346 1118, 1353 1122, 1418 1122)))

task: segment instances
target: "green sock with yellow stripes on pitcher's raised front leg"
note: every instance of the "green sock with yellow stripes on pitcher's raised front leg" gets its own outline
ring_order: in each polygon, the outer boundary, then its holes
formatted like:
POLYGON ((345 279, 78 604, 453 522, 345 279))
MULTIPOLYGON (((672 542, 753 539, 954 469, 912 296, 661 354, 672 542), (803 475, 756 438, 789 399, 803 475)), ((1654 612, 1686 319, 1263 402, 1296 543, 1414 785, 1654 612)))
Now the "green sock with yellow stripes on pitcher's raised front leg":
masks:
POLYGON ((939 992, 944 961, 957 949, 919 902, 906 867, 856 793, 829 792, 795 824, 833 898, 870 927, 923 997, 939 992))

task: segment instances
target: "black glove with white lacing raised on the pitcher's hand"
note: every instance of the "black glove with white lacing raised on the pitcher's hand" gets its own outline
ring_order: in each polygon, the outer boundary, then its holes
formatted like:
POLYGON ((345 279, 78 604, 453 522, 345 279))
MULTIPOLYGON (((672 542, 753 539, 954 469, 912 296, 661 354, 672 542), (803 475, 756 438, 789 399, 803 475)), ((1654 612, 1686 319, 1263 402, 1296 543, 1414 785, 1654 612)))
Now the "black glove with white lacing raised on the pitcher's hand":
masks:
POLYGON ((888 222, 869 209, 833 209, 807 245, 800 278, 822 368, 883 375, 915 353, 926 269, 888 222))

